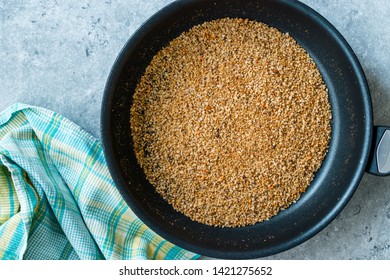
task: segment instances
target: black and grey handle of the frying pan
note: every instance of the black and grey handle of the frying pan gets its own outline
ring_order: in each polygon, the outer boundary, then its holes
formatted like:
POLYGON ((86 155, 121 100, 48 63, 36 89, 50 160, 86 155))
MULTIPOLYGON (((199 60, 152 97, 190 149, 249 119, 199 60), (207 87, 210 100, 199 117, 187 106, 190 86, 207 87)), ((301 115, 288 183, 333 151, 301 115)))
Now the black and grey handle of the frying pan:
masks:
POLYGON ((374 126, 370 159, 366 171, 378 175, 390 175, 390 127, 374 126))

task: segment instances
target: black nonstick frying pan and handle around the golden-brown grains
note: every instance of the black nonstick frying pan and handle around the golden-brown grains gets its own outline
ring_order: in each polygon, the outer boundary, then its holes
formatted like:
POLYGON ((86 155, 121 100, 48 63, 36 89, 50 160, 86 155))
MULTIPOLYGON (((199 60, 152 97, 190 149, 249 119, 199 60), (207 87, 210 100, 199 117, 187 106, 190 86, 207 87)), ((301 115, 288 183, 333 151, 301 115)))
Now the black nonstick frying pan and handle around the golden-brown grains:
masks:
POLYGON ((291 0, 183 0, 168 5, 125 45, 108 78, 102 104, 105 154, 125 201, 162 237, 218 258, 276 254, 318 233, 347 204, 366 168, 379 175, 389 173, 390 136, 382 137, 385 131, 383 127, 374 131, 367 82, 347 42, 317 12, 291 0), (316 61, 329 89, 333 114, 329 152, 307 192, 270 220, 241 228, 193 222, 165 202, 137 164, 129 124, 132 94, 153 55, 193 25, 221 17, 249 18, 289 32, 316 61))

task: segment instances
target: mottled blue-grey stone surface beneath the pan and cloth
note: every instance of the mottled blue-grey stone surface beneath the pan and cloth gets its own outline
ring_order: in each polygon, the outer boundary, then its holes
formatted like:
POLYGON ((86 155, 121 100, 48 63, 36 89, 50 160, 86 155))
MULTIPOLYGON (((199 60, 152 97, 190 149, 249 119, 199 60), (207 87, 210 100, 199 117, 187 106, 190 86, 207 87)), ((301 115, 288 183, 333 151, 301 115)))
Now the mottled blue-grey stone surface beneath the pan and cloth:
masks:
MULTIPOLYGON (((172 0, 1 0, 0 111, 57 111, 100 137, 110 68, 129 36, 172 0)), ((349 41, 367 75, 376 124, 390 124, 390 2, 304 0, 349 41)), ((390 259, 390 178, 364 175, 321 233, 269 259, 390 259)))

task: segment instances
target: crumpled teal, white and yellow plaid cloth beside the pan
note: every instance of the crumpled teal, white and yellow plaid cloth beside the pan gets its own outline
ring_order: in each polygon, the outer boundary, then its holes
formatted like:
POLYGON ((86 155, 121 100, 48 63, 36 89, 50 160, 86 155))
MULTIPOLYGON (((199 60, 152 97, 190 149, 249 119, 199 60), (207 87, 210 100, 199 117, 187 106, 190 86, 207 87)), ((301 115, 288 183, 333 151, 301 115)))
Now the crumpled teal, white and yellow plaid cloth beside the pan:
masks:
POLYGON ((0 259, 196 259, 120 196, 98 140, 47 109, 0 114, 0 259))

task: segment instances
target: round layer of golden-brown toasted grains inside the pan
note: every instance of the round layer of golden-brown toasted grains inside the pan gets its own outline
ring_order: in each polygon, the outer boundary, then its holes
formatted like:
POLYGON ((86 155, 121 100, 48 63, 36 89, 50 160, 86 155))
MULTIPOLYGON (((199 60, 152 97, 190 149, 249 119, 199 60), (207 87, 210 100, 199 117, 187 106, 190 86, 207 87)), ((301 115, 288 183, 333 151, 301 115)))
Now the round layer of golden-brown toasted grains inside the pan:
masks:
POLYGON ((322 76, 287 33, 222 18, 159 51, 137 85, 130 125, 149 182, 194 221, 239 227, 306 191, 327 153, 322 76))

